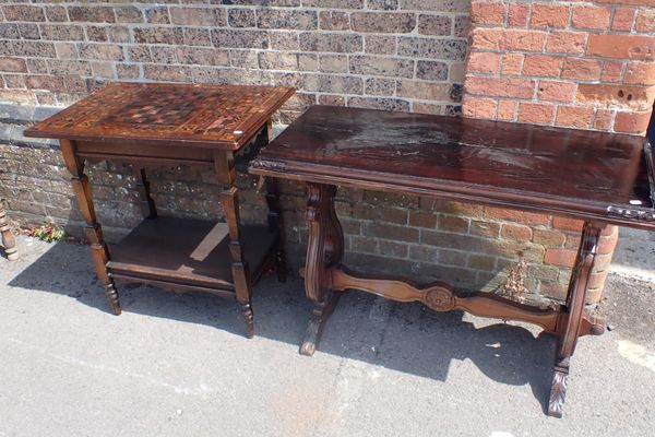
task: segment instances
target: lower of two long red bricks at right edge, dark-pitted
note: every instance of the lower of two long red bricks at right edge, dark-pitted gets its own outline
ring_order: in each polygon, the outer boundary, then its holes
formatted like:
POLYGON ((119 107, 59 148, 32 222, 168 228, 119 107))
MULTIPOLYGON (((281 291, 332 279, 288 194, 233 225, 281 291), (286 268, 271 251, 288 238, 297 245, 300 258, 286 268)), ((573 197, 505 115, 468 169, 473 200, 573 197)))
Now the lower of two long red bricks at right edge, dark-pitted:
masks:
POLYGON ((598 103, 604 105, 623 105, 638 110, 646 110, 653 106, 655 86, 630 86, 608 84, 577 85, 577 102, 598 103))

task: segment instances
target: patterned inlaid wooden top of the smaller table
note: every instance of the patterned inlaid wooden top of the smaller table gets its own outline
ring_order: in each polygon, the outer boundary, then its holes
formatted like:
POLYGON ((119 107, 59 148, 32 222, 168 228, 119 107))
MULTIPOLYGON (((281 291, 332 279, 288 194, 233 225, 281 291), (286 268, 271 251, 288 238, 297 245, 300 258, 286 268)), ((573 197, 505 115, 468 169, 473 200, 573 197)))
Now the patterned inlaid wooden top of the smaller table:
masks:
POLYGON ((293 94, 283 86, 111 83, 25 135, 237 150, 293 94))

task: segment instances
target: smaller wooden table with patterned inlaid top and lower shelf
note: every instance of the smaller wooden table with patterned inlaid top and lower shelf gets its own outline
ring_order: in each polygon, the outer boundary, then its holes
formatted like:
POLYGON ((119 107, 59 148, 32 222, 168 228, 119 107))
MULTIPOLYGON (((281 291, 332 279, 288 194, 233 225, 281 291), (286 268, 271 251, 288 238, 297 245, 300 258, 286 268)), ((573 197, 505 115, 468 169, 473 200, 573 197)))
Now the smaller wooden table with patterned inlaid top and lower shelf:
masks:
POLYGON ((274 184, 267 185, 267 226, 242 226, 235 166, 253 140, 249 155, 267 143, 271 116, 293 93, 267 86, 114 83, 25 132, 60 140, 96 273, 116 315, 121 308, 115 280, 150 283, 236 297, 247 335, 253 335, 251 286, 274 260, 284 279, 284 251, 274 184), (85 160, 133 164, 145 218, 111 250, 96 217, 85 160), (226 224, 157 215, 145 167, 178 165, 214 168, 224 187, 226 224))

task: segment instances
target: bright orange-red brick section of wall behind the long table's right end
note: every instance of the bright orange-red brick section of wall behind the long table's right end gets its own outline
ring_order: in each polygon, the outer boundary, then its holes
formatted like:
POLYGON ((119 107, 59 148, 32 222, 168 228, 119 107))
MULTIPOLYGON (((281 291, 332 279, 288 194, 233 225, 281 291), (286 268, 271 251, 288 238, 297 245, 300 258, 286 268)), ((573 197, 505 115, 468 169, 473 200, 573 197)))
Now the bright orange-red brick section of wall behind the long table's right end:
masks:
MULTIPOLYGON (((466 117, 645 133, 655 98, 655 1, 474 0, 466 117)), ((546 228, 581 223, 544 216, 546 228)), ((533 229, 537 232, 537 229, 533 229)), ((592 296, 600 296, 618 229, 606 229, 592 296)), ((546 244, 570 267, 576 234, 546 244)))

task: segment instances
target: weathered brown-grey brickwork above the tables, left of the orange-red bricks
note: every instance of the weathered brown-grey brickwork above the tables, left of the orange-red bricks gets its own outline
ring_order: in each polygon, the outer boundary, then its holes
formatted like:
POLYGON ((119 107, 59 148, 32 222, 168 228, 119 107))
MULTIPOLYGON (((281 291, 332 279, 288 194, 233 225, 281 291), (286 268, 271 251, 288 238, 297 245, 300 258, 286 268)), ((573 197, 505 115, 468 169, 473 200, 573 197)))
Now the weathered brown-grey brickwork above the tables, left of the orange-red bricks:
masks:
POLYGON ((469 0, 4 1, 0 99, 69 105, 107 80, 230 82, 298 88, 284 123, 319 102, 457 114, 468 9, 469 0))

